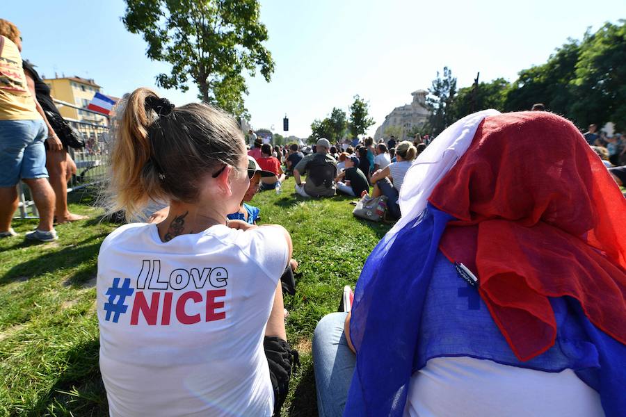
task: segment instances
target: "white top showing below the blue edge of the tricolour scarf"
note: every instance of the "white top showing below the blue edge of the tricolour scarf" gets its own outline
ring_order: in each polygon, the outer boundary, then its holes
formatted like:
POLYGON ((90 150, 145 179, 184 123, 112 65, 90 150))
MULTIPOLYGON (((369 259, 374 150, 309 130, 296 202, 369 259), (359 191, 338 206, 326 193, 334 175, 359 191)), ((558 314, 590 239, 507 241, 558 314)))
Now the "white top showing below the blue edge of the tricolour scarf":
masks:
POLYGON ((600 394, 571 369, 561 373, 485 359, 431 359, 410 380, 404 415, 604 416, 600 394))

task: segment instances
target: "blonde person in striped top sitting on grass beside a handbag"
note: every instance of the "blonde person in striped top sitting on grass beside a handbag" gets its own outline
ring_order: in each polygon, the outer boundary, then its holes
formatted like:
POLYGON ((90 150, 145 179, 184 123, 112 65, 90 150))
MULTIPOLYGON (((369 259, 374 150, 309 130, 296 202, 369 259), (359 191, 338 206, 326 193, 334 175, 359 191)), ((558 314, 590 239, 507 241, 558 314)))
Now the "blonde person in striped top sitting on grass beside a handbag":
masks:
POLYGON ((371 177, 374 189, 371 197, 387 196, 387 207, 393 218, 400 218, 398 197, 407 170, 415 159, 417 150, 411 142, 403 140, 396 147, 396 162, 392 162, 383 170, 374 172, 371 177))

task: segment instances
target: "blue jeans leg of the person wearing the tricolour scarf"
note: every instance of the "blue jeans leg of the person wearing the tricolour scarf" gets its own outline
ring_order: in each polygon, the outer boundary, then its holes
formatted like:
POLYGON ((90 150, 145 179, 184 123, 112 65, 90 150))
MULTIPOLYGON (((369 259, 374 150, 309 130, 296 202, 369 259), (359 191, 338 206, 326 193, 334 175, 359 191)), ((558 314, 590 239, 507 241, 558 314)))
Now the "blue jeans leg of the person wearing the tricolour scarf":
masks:
POLYGON ((348 313, 324 316, 313 334, 313 368, 320 417, 344 414, 356 356, 348 347, 344 322, 348 313))

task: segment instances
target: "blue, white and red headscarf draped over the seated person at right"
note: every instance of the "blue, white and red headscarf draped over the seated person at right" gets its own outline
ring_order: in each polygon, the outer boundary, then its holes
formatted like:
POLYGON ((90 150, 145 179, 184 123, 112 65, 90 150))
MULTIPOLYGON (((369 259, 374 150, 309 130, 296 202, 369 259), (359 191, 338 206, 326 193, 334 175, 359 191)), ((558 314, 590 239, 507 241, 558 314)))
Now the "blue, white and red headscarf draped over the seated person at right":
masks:
POLYGON ((412 373, 459 355, 570 368, 607 415, 626 414, 626 200, 575 126, 543 112, 465 117, 408 171, 401 211, 355 290, 346 416, 400 416, 412 373), (429 290, 442 254, 478 276, 468 294, 495 323, 476 340, 449 320, 456 352, 425 336, 427 301, 449 300, 429 290))

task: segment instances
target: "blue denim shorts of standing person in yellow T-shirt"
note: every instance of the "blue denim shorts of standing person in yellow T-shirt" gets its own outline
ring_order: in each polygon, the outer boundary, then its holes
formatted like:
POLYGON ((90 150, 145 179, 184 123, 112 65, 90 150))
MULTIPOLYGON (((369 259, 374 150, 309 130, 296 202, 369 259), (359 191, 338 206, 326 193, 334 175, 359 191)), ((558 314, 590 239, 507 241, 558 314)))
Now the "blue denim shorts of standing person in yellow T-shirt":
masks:
POLYGON ((13 187, 22 178, 48 177, 47 133, 42 119, 0 120, 0 187, 13 187))

